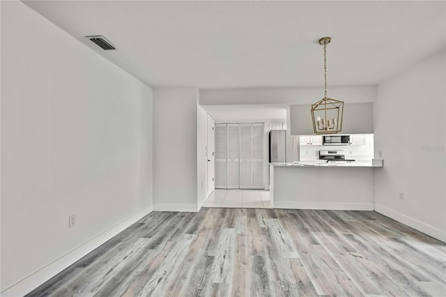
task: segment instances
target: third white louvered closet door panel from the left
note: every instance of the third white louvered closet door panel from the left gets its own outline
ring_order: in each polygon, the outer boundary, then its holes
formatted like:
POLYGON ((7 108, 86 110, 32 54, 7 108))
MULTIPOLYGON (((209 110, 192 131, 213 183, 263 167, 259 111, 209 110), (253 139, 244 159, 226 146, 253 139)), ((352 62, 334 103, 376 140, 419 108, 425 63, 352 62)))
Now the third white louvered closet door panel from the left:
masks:
POLYGON ((252 189, 252 125, 240 124, 240 189, 252 189))

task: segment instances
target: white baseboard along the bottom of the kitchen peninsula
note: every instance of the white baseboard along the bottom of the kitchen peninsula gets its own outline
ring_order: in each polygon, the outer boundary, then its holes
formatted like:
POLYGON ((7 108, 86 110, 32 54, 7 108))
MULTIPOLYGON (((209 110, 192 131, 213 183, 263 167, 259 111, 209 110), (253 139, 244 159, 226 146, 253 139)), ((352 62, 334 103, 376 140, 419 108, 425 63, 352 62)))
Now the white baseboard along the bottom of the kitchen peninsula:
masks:
POLYGON ((274 201, 274 208, 316 209, 326 211, 373 211, 372 203, 337 203, 313 201, 274 201))

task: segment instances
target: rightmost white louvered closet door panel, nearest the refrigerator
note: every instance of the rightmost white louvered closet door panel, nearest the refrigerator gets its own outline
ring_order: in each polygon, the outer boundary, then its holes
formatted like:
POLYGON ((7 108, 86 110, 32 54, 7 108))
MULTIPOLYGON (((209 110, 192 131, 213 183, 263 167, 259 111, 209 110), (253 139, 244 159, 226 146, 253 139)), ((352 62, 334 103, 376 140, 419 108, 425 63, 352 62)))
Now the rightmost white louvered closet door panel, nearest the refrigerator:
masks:
POLYGON ((252 188, 265 188, 263 178, 263 137, 265 135, 263 123, 252 124, 252 188))

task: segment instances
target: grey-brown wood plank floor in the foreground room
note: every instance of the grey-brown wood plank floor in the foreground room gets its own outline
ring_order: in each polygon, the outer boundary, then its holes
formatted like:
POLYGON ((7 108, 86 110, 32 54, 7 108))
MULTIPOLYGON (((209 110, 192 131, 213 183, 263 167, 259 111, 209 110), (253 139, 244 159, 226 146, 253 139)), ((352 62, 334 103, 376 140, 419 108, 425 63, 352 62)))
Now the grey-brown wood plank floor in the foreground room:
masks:
POLYGON ((153 212, 27 296, 446 296, 446 245, 371 211, 153 212))

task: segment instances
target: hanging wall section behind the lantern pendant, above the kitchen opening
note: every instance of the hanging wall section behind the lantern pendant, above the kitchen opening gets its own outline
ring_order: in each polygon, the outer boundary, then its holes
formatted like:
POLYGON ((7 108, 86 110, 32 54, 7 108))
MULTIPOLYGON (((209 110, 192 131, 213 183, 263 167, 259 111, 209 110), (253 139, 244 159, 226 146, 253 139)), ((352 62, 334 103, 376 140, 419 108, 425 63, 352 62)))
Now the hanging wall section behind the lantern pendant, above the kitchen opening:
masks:
MULTIPOLYGON (((342 134, 373 133, 373 103, 352 103, 348 98, 344 100, 344 116, 342 134)), ((311 105, 290 105, 290 133, 291 135, 314 134, 311 105)))

